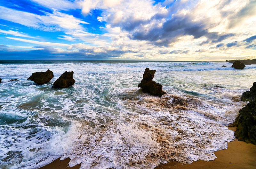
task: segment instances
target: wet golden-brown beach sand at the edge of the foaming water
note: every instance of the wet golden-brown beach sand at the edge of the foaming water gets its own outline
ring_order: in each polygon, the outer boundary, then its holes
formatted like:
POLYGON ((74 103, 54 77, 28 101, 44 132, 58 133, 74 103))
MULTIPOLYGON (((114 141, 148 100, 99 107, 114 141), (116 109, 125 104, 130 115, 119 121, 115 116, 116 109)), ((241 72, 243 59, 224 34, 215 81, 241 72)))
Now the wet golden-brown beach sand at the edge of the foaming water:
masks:
MULTIPOLYGON (((228 127, 229 130, 236 130, 236 127, 228 127)), ((155 169, 170 169, 170 168, 256 168, 256 145, 251 143, 247 144, 244 141, 237 139, 228 142, 228 148, 215 151, 214 154, 217 158, 210 161, 198 160, 193 161, 191 164, 181 164, 177 161, 170 161, 155 167, 155 169)), ((60 158, 52 161, 50 164, 45 165, 39 169, 79 169, 81 164, 68 167, 70 159, 60 158)))

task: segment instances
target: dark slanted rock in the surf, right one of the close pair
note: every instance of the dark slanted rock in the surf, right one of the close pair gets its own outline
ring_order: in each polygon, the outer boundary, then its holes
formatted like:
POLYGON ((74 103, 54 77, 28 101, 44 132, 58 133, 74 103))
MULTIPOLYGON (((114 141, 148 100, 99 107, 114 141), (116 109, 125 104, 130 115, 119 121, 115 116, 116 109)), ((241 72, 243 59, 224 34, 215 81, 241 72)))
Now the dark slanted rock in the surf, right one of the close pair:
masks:
POLYGON ((57 79, 53 83, 53 88, 68 88, 69 86, 73 86, 74 83, 76 82, 75 79, 73 78, 74 72, 64 72, 61 74, 59 79, 57 79))

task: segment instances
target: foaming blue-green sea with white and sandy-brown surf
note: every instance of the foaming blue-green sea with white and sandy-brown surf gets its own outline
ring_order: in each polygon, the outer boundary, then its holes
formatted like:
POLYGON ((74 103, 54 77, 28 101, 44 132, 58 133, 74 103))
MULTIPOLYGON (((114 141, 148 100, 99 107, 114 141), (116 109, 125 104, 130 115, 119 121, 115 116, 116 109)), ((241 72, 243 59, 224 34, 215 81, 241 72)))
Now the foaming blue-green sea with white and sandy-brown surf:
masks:
POLYGON ((256 80, 256 65, 225 62, 0 61, 0 168, 38 168, 61 158, 81 168, 154 168, 216 158, 256 80), (222 67, 226 65, 227 67, 222 67), (167 92, 142 93, 146 67, 167 92), (34 72, 54 73, 43 85, 34 72), (74 86, 52 88, 65 71, 74 86), (18 79, 18 81, 10 81, 18 79))

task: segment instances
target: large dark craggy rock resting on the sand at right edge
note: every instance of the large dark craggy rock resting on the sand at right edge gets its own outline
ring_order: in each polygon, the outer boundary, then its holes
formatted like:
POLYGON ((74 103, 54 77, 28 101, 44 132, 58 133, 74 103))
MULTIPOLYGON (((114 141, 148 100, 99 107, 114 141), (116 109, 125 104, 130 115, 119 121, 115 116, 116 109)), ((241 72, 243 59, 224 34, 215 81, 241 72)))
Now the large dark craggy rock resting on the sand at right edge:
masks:
POLYGON ((256 99, 239 111, 235 136, 240 141, 256 145, 256 99))

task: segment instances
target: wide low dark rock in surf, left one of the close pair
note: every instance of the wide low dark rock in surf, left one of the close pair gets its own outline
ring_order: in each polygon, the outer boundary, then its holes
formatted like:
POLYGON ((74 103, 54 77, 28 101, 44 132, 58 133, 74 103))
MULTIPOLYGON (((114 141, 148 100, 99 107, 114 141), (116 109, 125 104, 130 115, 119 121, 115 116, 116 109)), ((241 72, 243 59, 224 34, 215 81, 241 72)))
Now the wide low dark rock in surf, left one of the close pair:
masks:
POLYGON ((53 78, 53 72, 47 70, 46 72, 35 72, 27 80, 34 81, 37 84, 44 84, 49 82, 53 78))

